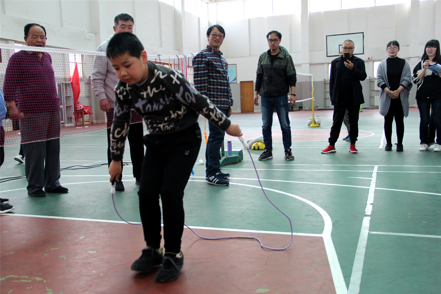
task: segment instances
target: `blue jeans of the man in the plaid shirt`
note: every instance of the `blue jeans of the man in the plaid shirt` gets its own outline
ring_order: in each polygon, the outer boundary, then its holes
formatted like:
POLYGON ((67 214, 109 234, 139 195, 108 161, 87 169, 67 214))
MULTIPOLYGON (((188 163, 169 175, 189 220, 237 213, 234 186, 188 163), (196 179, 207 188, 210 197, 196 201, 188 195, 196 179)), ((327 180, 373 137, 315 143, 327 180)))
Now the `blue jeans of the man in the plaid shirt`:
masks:
MULTIPOLYGON (((230 109, 219 109, 227 117, 230 114, 230 109)), ((225 132, 215 126, 211 121, 208 121, 208 139, 205 149, 205 175, 211 177, 215 173, 221 171, 221 162, 219 162, 219 151, 221 150, 222 142, 224 141, 225 132)))

